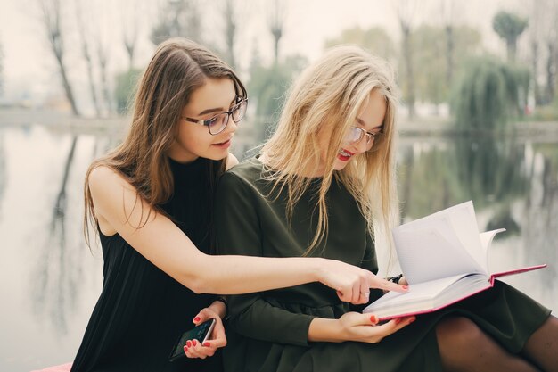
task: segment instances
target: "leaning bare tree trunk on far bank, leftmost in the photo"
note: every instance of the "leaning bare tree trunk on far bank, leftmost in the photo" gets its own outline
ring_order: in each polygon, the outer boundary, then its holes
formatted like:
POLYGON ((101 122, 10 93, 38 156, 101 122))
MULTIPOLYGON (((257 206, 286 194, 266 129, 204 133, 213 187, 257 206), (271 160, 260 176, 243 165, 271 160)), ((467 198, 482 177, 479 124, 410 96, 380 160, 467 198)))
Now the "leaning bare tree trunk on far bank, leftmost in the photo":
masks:
POLYGON ((45 26, 46 37, 58 64, 58 70, 62 78, 62 87, 71 106, 74 115, 79 116, 78 106, 68 79, 66 65, 64 63, 64 38, 62 31, 62 5, 61 0, 37 0, 41 12, 41 21, 45 26))

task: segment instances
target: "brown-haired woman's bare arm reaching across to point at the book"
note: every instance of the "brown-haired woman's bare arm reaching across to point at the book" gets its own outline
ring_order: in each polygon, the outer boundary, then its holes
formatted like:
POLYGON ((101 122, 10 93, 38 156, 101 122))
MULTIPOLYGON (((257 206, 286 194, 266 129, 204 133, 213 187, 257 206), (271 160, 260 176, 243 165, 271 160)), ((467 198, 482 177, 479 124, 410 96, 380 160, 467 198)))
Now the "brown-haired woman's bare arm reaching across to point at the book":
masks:
POLYGON ((88 181, 103 233, 118 232, 147 260, 195 293, 252 293, 319 281, 339 291, 341 300, 361 303, 358 293, 369 287, 402 291, 365 269, 335 260, 205 254, 170 219, 151 210, 134 186, 113 169, 98 167, 88 181))

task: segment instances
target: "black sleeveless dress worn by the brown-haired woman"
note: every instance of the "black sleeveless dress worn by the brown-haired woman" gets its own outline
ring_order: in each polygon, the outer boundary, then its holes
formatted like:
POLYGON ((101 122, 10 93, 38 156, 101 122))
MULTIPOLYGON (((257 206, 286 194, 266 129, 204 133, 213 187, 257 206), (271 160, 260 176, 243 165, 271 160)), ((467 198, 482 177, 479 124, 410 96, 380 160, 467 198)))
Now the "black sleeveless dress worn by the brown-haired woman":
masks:
MULTIPOLYGON (((202 252, 210 251, 209 161, 170 160, 175 192, 160 207, 202 252)), ((220 371, 220 353, 206 360, 168 361, 192 319, 215 299, 196 294, 139 254, 118 234, 103 236, 103 292, 71 372, 220 371)))

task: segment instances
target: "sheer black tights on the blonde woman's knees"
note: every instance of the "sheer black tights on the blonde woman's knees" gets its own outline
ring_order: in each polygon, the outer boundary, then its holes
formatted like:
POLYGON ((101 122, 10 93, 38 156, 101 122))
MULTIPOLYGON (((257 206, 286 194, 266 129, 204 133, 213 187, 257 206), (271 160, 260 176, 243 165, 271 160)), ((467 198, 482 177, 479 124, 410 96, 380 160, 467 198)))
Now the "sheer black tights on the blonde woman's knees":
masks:
POLYGON ((506 351, 469 318, 442 319, 436 336, 447 372, 558 372, 558 318, 553 316, 529 337, 519 354, 506 351))

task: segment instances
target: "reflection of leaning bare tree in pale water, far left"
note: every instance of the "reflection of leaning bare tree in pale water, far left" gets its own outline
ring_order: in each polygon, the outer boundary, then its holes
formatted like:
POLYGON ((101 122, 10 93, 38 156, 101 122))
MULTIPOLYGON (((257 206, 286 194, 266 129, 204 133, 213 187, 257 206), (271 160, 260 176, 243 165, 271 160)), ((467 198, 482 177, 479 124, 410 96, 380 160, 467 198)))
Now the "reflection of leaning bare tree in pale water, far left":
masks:
POLYGON ((69 244, 71 235, 66 231, 67 186, 77 143, 78 136, 73 136, 63 164, 61 186, 53 205, 48 227, 50 235, 37 260, 38 267, 34 270, 37 276, 34 278, 36 293, 33 295, 36 313, 47 314, 59 334, 66 333, 69 311, 76 307, 78 285, 82 281, 83 260, 80 258, 86 252, 82 246, 71 246, 73 242, 69 244))

